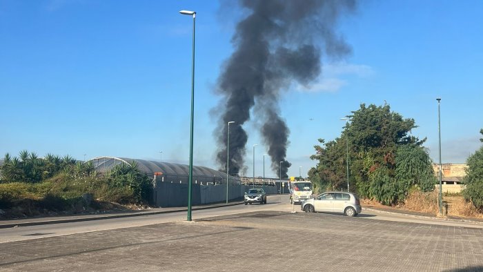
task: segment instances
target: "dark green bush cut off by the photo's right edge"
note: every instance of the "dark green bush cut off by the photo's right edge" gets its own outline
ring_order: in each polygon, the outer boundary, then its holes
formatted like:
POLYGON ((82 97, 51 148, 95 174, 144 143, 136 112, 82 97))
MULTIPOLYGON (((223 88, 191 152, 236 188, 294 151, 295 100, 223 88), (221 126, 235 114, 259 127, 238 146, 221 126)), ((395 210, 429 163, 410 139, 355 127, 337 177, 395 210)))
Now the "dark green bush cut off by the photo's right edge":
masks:
POLYGON ((463 191, 463 196, 466 200, 473 203, 476 208, 483 209, 483 147, 471 155, 466 164, 466 176, 463 183, 466 188, 463 191))

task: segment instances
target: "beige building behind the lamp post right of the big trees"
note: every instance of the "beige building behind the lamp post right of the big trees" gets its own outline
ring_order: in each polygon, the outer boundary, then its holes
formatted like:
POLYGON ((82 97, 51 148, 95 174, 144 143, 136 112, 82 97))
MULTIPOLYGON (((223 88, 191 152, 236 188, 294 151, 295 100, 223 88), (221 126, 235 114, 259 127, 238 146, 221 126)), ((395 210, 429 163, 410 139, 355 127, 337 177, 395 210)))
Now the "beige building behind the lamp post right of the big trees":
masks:
MULTIPOLYGON (((466 164, 442 164, 442 191, 444 193, 461 193, 464 188, 462 184, 463 177, 466 175, 466 164)), ((438 178, 440 173, 440 164, 433 164, 433 171, 438 178)), ((436 184, 436 189, 440 188, 440 184, 436 184)))

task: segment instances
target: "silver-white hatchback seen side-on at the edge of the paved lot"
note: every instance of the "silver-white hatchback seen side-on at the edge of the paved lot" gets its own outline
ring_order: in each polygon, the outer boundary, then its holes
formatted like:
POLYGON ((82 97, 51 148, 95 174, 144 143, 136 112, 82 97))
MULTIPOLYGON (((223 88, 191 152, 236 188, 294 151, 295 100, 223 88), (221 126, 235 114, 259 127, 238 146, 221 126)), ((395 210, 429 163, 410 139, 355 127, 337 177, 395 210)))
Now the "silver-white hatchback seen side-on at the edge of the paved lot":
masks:
POLYGON ((300 206, 306 213, 329 212, 355 216, 361 213, 359 197, 353 193, 326 192, 302 202, 300 206))

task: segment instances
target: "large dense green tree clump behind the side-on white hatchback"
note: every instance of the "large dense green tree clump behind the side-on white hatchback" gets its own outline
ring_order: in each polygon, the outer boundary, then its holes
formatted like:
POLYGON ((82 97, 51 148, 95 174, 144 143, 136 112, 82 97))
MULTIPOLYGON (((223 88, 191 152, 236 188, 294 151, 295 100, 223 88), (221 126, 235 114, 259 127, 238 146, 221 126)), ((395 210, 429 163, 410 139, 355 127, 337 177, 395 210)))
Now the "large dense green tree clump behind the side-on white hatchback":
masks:
POLYGON ((349 183, 362 197, 395 204, 404 201, 412 186, 433 190, 436 182, 431 159, 422 147, 426 139, 410 134, 417 128, 414 119, 404 119, 386 104, 361 104, 348 117, 351 122, 346 123, 340 137, 327 143, 319 139, 321 145, 314 146, 316 153, 311 159, 318 163, 309 177, 319 187, 324 181, 337 190, 346 188, 348 143, 349 183))

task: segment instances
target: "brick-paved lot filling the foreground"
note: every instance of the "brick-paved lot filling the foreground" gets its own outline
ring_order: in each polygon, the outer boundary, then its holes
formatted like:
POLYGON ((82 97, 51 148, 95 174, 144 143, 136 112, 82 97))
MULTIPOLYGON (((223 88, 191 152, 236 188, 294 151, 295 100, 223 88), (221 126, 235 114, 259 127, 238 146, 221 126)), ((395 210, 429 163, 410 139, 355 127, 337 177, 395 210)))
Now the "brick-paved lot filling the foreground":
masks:
POLYGON ((245 213, 10 242, 0 270, 483 271, 482 229, 362 216, 245 213))

